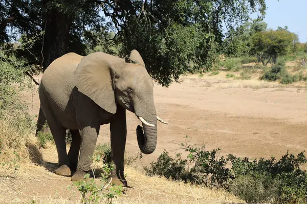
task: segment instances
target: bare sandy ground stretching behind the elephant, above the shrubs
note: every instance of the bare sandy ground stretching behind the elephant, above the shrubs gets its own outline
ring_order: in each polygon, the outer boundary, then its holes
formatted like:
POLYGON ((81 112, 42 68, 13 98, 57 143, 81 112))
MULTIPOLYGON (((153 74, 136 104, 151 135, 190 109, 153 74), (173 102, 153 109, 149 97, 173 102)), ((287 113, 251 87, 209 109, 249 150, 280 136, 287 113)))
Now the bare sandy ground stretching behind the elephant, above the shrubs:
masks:
MULTIPOLYGON (((221 148, 222 154, 250 158, 280 158, 287 150, 297 154, 306 149, 306 84, 289 87, 259 81, 257 74, 251 80, 226 79, 225 75, 188 75, 168 88, 155 85, 157 113, 169 124, 158 123, 157 148, 153 154, 143 155, 143 165, 164 149, 170 155, 184 153, 179 149, 181 142, 205 144, 208 150, 221 148)), ((34 91, 32 97, 28 92, 25 100, 31 114, 38 115, 38 94, 34 91)), ((138 124, 136 116, 127 111, 127 155, 139 153, 138 124)), ((109 125, 102 125, 97 143, 109 142, 109 136, 109 125)))

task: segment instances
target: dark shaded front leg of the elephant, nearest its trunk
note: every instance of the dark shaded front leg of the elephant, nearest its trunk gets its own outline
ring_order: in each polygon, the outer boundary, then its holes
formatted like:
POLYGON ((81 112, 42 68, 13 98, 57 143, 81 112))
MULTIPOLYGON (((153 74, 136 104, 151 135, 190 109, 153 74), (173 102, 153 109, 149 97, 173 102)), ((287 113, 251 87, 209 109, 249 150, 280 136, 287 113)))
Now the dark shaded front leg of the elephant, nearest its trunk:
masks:
POLYGON ((124 108, 117 107, 116 115, 110 123, 110 131, 112 164, 114 164, 114 169, 111 172, 112 182, 127 187, 127 181, 124 177, 124 153, 127 136, 126 111, 124 108))

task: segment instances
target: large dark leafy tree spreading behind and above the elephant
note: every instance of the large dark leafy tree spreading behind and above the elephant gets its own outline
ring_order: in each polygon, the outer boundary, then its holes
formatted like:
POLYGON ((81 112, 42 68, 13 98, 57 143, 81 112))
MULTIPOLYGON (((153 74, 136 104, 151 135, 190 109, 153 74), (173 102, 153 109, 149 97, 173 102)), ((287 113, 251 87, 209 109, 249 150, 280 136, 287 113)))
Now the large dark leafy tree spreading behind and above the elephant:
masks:
POLYGON ((222 23, 230 30, 257 10, 265 14, 265 0, 2 0, 0 43, 45 31, 32 53, 16 54, 43 71, 65 53, 85 55, 86 44, 113 40, 120 57, 138 49, 152 78, 168 86, 187 71, 210 69, 223 46, 222 23))

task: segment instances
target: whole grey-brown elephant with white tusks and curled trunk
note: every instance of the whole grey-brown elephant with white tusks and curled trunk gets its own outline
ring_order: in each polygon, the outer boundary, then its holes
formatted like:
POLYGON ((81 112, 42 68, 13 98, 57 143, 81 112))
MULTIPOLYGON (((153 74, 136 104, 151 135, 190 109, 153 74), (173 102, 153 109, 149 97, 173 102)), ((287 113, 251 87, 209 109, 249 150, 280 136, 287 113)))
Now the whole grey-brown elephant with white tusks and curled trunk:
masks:
POLYGON ((137 50, 123 58, 103 52, 86 56, 68 53, 55 59, 43 72, 38 95, 40 108, 54 138, 58 168, 55 173, 80 181, 90 171, 100 125, 111 132, 112 183, 127 187, 124 177, 126 110, 142 122, 136 129, 143 154, 157 145, 157 116, 153 102, 153 80, 137 50), (72 142, 67 154, 65 133, 72 142))

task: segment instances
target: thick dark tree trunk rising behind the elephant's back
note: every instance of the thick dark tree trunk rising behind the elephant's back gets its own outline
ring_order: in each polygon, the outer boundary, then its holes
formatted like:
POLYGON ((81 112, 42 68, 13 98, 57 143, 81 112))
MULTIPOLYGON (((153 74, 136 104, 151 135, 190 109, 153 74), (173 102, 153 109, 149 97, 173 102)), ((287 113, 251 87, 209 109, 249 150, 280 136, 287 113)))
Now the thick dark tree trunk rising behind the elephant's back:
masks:
MULTIPOLYGON (((47 5, 50 0, 43 1, 43 5, 47 5)), ((44 6, 43 6, 44 7, 44 6)), ((42 25, 45 28, 45 36, 43 40, 43 71, 55 59, 68 53, 69 32, 72 24, 72 18, 68 14, 62 13, 56 9, 45 9, 43 14, 42 25)), ((36 136, 39 131, 48 132, 49 130, 43 126, 46 123, 46 117, 41 108, 39 109, 37 119, 36 136)))

